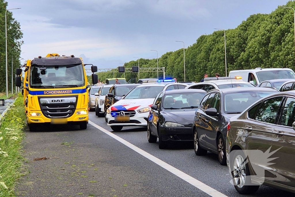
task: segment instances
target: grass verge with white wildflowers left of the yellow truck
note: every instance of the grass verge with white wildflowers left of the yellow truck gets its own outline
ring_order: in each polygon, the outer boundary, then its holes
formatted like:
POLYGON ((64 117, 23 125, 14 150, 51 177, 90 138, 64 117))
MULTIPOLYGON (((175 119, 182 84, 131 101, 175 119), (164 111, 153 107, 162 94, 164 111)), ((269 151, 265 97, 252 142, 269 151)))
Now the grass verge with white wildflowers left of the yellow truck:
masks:
POLYGON ((15 196, 14 186, 21 176, 23 157, 20 153, 26 115, 22 95, 19 94, 0 125, 0 196, 15 196))

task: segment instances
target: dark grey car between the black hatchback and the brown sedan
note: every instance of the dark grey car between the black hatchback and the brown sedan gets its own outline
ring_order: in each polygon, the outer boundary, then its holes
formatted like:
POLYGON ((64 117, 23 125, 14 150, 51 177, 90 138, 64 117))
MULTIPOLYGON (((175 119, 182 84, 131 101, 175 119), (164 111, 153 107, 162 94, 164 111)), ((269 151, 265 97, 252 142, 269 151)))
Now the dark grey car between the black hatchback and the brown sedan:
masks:
POLYGON ((218 154, 221 165, 226 165, 225 139, 230 118, 242 113, 259 99, 278 90, 262 87, 212 89, 201 101, 194 116, 194 151, 205 155, 218 154))

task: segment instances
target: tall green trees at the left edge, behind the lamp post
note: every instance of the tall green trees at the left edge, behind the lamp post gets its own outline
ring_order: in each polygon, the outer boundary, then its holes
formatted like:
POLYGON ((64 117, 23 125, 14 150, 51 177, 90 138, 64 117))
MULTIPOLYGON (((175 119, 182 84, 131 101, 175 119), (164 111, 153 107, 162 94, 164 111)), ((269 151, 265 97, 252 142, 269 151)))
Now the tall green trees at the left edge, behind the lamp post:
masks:
MULTIPOLYGON (((0 92, 6 91, 6 50, 5 50, 5 12, 8 3, 0 0, 0 92)), ((23 33, 20 31, 20 24, 12 17, 14 10, 7 11, 7 64, 8 64, 8 89, 11 91, 11 67, 13 59, 13 76, 15 69, 20 66, 20 47, 23 44, 23 33)), ((15 78, 15 77, 13 77, 15 78)))

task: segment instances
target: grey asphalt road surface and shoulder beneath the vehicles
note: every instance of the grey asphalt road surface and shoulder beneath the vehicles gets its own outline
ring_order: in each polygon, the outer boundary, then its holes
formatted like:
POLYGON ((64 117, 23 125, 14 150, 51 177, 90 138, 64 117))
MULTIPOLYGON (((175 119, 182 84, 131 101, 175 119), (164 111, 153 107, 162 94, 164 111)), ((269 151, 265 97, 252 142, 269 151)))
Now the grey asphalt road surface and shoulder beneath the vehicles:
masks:
MULTIPOLYGON (((215 154, 196 156, 191 143, 170 144, 160 150, 158 142, 148 143, 144 127, 113 132, 94 112, 90 112, 90 121, 107 131, 91 124, 87 130, 67 125, 26 130, 23 172, 28 173, 19 180, 17 196, 243 196, 231 185, 227 167, 219 164, 215 154), (197 188, 188 183, 151 161, 154 157, 148 159, 133 150, 136 147, 131 149, 106 134, 108 131, 218 192, 201 191, 204 185, 197 188)), ((260 186, 248 196, 294 194, 260 186)))

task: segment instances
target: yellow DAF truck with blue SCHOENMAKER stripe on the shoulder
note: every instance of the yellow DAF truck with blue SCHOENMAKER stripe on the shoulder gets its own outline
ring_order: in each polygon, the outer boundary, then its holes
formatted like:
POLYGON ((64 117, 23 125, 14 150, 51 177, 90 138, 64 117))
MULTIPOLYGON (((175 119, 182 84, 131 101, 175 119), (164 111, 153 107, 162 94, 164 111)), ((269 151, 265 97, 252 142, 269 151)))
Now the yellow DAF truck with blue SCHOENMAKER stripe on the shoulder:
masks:
MULTIPOLYGON (((28 60, 24 78, 16 77, 16 86, 24 89, 27 123, 30 131, 40 124, 88 124, 89 87, 82 58, 59 56, 57 53, 28 60), (23 81, 21 81, 23 80, 23 81)), ((91 64, 92 65, 92 64, 91 64)), ((96 66, 91 71, 97 72, 96 66)), ((17 69, 17 75, 22 69, 17 69)), ((92 74, 92 84, 98 77, 92 74)))

